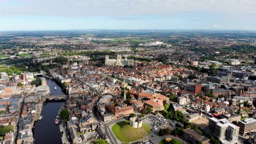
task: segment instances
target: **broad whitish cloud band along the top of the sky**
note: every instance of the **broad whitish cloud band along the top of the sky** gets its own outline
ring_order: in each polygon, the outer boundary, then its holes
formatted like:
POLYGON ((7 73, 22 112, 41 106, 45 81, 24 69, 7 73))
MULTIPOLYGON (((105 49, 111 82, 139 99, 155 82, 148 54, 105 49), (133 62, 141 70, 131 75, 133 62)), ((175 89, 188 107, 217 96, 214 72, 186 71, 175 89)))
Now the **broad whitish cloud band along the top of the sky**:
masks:
POLYGON ((256 13, 255 0, 0 0, 0 16, 124 16, 209 12, 256 13))

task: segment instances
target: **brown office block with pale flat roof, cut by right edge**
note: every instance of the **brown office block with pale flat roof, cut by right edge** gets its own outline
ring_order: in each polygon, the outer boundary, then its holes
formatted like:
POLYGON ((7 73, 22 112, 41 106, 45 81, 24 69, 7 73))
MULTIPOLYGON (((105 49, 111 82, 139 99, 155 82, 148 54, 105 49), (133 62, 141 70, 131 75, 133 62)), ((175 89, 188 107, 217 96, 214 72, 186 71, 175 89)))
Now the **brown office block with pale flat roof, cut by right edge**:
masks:
POLYGON ((238 121, 238 126, 240 127, 240 134, 246 134, 250 131, 256 131, 256 119, 245 118, 242 121, 238 121))

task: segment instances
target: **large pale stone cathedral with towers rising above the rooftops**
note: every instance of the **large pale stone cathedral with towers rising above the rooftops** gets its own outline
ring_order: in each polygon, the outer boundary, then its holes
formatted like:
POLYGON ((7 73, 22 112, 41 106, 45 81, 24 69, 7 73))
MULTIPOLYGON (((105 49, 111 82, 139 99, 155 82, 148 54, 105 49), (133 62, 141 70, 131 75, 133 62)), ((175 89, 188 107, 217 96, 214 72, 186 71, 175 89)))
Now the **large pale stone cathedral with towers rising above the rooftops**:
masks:
POLYGON ((117 59, 108 59, 108 55, 105 56, 105 65, 133 65, 133 59, 121 59, 121 55, 117 55, 117 59))

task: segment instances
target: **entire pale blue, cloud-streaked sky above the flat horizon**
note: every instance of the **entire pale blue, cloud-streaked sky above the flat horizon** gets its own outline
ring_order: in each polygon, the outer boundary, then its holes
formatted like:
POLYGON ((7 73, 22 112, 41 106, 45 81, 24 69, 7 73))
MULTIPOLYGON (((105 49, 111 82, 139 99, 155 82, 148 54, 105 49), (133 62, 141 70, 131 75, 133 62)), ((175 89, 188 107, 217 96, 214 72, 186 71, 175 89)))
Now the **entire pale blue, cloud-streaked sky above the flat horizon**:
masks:
POLYGON ((0 0, 0 31, 256 30, 256 0, 0 0))

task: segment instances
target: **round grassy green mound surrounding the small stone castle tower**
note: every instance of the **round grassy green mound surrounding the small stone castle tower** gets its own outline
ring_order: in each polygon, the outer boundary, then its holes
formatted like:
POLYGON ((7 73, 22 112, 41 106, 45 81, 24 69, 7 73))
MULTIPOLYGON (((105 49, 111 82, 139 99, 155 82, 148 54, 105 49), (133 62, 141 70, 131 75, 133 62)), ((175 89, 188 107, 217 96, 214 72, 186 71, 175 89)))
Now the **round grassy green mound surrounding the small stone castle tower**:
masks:
POLYGON ((121 121, 112 127, 112 131, 120 141, 136 141, 143 138, 144 134, 151 132, 150 127, 147 124, 142 124, 142 128, 132 128, 129 125, 129 121, 121 121))

